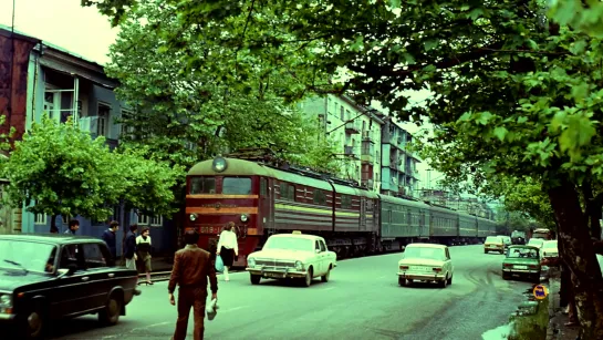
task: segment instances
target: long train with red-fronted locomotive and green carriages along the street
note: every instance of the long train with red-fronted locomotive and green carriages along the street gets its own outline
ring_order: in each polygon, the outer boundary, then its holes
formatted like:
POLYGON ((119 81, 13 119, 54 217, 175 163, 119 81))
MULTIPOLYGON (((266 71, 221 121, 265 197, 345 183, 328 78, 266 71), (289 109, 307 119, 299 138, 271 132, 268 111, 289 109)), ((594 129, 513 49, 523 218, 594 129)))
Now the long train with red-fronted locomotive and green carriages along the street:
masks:
POLYGON ((235 223, 235 266, 246 266, 270 235, 293 230, 322 236, 337 258, 401 251, 415 241, 478 244, 497 235, 493 220, 262 162, 219 156, 194 165, 186 182, 183 230, 196 229, 199 247, 215 250, 221 229, 235 223))

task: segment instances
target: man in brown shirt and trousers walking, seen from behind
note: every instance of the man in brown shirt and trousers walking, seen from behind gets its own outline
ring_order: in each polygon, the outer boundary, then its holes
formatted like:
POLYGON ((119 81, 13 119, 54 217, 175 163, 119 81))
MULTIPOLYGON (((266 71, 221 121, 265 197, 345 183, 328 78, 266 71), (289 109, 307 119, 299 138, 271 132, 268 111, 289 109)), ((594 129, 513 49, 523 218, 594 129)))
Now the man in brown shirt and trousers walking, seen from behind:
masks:
POLYGON ((210 260, 210 254, 199 247, 199 234, 195 230, 185 233, 186 246, 176 251, 174 267, 167 290, 169 291, 169 303, 176 305, 174 290, 176 285, 180 286, 178 291, 178 320, 174 340, 185 340, 188 326, 188 316, 193 307, 195 318, 195 340, 204 338, 205 303, 207 300, 207 279, 209 278, 211 299, 218 297, 218 279, 216 268, 210 260))

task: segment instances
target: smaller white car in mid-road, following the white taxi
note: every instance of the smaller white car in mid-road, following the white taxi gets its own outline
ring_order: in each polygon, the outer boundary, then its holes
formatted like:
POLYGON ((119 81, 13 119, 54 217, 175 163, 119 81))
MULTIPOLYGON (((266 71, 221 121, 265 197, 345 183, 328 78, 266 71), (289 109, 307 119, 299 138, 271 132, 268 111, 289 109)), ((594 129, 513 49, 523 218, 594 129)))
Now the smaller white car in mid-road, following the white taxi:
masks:
POLYGON ((438 282, 441 288, 453 284, 455 267, 447 246, 410 244, 398 261, 398 285, 413 280, 438 282))

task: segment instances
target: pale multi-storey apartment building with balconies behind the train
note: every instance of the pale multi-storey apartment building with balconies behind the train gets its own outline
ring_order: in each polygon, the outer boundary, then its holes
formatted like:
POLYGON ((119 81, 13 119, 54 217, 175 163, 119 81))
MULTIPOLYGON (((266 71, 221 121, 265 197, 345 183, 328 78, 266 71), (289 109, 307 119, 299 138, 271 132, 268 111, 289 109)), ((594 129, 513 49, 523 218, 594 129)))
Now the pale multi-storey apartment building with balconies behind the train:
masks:
POLYGON ((416 196, 419 161, 407 150, 413 136, 392 117, 337 95, 310 97, 299 109, 314 116, 324 136, 341 150, 335 155, 341 178, 375 193, 416 196))

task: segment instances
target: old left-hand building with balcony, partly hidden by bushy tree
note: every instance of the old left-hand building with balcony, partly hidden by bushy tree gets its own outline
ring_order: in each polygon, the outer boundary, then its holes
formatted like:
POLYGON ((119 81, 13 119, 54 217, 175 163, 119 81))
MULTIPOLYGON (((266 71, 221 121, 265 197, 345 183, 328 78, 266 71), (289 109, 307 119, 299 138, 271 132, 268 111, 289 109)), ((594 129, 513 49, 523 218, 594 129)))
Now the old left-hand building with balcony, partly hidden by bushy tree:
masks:
MULTIPOLYGON (((13 105, 4 110, 0 107, 2 110, 0 114, 8 117, 2 131, 14 126, 17 130, 14 140, 21 140, 23 133, 28 132, 34 122, 40 122, 42 115, 46 113, 49 117, 60 123, 65 123, 72 117, 73 122, 79 124, 81 130, 89 131, 93 138, 104 136, 111 150, 119 144, 122 126, 116 120, 127 114, 129 110, 116 99, 113 90, 117 82, 105 75, 102 65, 41 40, 12 33, 2 28, 0 50, 4 52, 2 53, 4 59, 9 54, 7 51, 14 51, 19 61, 12 62, 12 86, 15 87, 11 93, 13 105), (23 48, 11 50, 13 43, 23 48), (19 82, 14 79, 19 79, 19 82)), ((8 87, 10 84, 7 79, 0 79, 0 82, 3 82, 0 83, 0 87, 3 87, 2 85, 8 87)), ((22 233, 50 233, 50 216, 32 214, 25 208, 23 206, 21 209, 13 209, 11 229, 22 233)), ((101 237, 108 227, 108 221, 115 219, 122 223, 118 239, 131 224, 137 223, 139 226, 152 227, 153 244, 157 250, 168 250, 175 241, 175 233, 169 220, 164 220, 163 217, 138 216, 135 212, 122 214, 118 206, 107 220, 90 220, 82 216, 72 218, 80 221, 81 235, 101 237)), ((56 218, 59 233, 66 230, 67 223, 60 216, 56 218)), ((117 243, 118 254, 121 246, 122 243, 117 243)))

